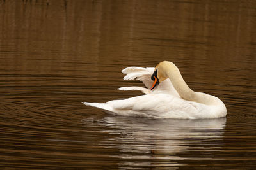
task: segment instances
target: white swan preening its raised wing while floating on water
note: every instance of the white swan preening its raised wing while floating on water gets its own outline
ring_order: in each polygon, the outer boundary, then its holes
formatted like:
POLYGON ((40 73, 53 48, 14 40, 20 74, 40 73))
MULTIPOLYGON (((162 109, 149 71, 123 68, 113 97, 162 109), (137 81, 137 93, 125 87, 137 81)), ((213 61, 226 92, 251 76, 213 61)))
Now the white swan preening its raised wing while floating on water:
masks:
POLYGON ((118 90, 140 90, 141 96, 107 103, 88 103, 107 113, 148 118, 203 119, 227 115, 225 104, 218 97, 194 92, 183 80, 173 62, 163 61, 156 67, 127 67, 124 80, 143 81, 145 87, 121 87, 118 90))

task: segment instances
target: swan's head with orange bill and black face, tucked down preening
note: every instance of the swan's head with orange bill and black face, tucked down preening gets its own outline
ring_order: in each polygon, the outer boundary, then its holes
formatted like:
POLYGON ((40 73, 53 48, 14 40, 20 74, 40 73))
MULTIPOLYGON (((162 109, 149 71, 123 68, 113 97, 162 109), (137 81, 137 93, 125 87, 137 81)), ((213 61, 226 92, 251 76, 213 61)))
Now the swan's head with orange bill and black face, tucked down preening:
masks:
POLYGON ((151 76, 151 80, 154 81, 151 90, 155 89, 159 83, 163 82, 164 80, 166 80, 166 78, 168 78, 168 76, 166 75, 166 69, 168 69, 168 65, 170 65, 170 63, 172 62, 168 62, 168 61, 163 61, 160 62, 154 70, 154 73, 151 76))

